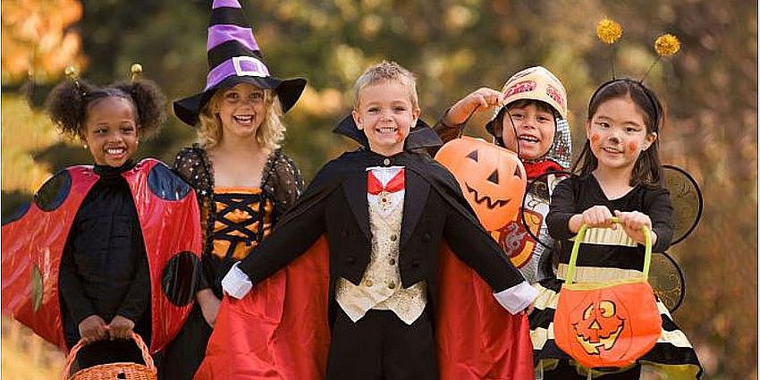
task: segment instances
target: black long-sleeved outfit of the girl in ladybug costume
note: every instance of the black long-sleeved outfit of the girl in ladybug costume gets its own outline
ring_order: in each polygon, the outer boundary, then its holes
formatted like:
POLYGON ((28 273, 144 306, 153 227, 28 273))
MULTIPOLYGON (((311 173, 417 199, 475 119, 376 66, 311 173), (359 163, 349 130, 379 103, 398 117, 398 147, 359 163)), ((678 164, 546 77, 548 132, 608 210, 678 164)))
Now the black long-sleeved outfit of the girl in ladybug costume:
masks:
POLYGON ((137 209, 121 167, 96 165, 100 178, 82 200, 63 249, 59 289, 66 341, 79 339, 80 322, 119 315, 148 337, 150 276, 137 209))

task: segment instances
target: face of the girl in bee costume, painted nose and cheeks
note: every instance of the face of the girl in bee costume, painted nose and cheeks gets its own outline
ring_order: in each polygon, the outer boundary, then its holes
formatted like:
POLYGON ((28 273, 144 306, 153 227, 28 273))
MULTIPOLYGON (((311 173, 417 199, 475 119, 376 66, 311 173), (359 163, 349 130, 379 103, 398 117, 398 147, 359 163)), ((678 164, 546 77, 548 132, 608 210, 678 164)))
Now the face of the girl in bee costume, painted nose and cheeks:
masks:
POLYGON ((596 109, 586 124, 597 170, 632 173, 638 156, 657 134, 647 131, 644 113, 630 97, 613 97, 596 109))

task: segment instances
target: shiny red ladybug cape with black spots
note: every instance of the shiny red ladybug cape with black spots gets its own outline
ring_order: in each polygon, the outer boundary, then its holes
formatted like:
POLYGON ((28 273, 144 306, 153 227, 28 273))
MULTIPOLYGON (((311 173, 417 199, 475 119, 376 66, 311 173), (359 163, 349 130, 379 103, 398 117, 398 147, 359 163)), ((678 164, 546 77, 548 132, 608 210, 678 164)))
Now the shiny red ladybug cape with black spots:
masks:
MULTIPOLYGON (((122 173, 129 184, 148 255, 151 352, 179 332, 190 313, 201 250, 195 192, 156 159, 122 173)), ((97 182, 92 166, 55 173, 34 200, 3 221, 2 311, 66 350, 58 297, 63 247, 82 200, 97 182)))

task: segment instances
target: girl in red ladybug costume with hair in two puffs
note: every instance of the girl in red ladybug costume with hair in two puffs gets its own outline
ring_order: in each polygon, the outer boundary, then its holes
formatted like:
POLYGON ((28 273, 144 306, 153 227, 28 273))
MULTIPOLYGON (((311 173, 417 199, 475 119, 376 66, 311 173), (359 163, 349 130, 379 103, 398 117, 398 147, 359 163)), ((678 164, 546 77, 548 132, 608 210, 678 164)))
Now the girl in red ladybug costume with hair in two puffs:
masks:
POLYGON ((80 368, 142 362, 132 334, 156 352, 190 311, 200 242, 195 197, 166 165, 133 160, 139 139, 165 121, 164 106, 148 80, 59 84, 47 111, 95 165, 56 173, 25 214, 3 226, 4 313, 62 348, 86 343, 80 368), (31 300, 12 289, 29 283, 44 286, 31 300), (50 297, 56 287, 60 303, 50 297))

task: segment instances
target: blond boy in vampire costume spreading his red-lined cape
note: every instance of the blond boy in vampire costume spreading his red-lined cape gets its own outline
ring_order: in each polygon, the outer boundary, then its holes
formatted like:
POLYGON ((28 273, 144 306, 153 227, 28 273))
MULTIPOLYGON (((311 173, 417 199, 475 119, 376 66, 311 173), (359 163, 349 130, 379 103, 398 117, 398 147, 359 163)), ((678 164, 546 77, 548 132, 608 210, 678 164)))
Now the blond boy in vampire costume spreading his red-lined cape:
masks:
POLYGON ((363 147, 225 276, 196 379, 532 379, 521 311, 536 291, 452 174, 410 151, 436 140, 411 129, 412 74, 377 64, 355 96, 336 131, 363 147))

